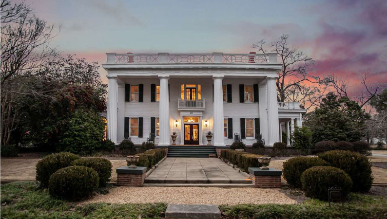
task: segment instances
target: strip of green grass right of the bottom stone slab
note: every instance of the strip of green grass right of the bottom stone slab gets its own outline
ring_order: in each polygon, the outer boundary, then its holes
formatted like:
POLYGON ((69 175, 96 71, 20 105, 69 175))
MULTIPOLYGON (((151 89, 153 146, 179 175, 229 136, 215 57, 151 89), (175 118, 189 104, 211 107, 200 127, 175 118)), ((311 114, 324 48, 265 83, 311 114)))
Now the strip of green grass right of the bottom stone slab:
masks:
POLYGON ((341 204, 310 199, 302 204, 241 204, 219 206, 228 219, 385 219, 387 198, 350 193, 341 204))

